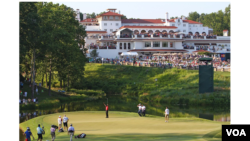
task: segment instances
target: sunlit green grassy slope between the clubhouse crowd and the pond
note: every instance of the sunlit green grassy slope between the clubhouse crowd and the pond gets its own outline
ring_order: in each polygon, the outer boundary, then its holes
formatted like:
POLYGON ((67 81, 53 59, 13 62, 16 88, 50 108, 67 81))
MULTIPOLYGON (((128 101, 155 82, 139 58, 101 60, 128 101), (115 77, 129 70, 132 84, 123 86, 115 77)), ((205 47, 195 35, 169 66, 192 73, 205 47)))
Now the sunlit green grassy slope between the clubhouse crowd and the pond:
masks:
MULTIPOLYGON (((56 75, 54 77, 52 89, 58 90, 60 89, 59 81, 56 75)), ((36 82, 41 83, 41 79, 37 77, 36 82)), ((214 72, 214 92, 199 94, 198 70, 88 63, 85 66, 84 87, 82 89, 71 88, 67 93, 80 96, 79 94, 88 93, 87 91, 90 90, 108 95, 135 96, 145 102, 188 105, 230 104, 231 73, 214 72)), ((46 93, 46 89, 44 92, 46 93)))

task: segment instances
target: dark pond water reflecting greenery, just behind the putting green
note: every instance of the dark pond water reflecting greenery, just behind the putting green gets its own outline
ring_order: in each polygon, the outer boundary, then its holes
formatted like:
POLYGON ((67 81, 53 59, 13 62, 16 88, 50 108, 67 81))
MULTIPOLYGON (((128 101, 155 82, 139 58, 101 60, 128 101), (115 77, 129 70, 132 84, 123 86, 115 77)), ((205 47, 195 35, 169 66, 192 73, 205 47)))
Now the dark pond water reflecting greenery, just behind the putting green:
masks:
MULTIPOLYGON (((105 104, 109 105, 109 111, 125 111, 138 112, 137 105, 139 103, 146 106, 147 114, 162 116, 164 118, 164 111, 166 107, 169 109, 169 118, 171 117, 198 117, 214 121, 231 121, 231 105, 222 107, 213 106, 186 106, 186 105, 166 105, 164 103, 145 103, 133 98, 120 98, 120 96, 109 96, 109 98, 99 99, 90 102, 69 102, 62 103, 58 108, 47 108, 37 110, 22 110, 18 111, 18 123, 22 123, 37 116, 71 112, 71 111, 105 111, 105 104)), ((138 115, 139 116, 139 115, 138 115)), ((19 134, 23 132, 18 129, 19 134)), ((19 135, 19 140, 25 140, 24 136, 19 135)))

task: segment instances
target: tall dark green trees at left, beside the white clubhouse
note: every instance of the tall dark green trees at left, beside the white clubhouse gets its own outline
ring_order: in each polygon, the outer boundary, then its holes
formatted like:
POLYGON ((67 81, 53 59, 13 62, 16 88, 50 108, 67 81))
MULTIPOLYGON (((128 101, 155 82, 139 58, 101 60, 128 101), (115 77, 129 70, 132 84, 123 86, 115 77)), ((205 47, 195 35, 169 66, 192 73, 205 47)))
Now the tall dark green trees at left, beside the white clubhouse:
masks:
POLYGON ((81 87, 86 50, 80 47, 86 31, 75 20, 73 9, 46 1, 19 1, 18 5, 19 72, 31 79, 32 95, 38 76, 42 85, 48 81, 49 95, 52 75, 57 75, 61 87, 81 87))

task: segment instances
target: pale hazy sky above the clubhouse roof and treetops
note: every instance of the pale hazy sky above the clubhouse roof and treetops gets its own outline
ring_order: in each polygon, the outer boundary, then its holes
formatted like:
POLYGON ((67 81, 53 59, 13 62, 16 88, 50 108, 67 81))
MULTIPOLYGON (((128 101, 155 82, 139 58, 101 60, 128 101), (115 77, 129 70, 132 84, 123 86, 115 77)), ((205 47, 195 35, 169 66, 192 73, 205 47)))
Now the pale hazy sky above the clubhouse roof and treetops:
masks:
POLYGON ((224 11, 231 1, 52 1, 64 4, 82 13, 100 13, 108 8, 116 8, 127 18, 156 19, 181 15, 189 12, 212 13, 224 11))

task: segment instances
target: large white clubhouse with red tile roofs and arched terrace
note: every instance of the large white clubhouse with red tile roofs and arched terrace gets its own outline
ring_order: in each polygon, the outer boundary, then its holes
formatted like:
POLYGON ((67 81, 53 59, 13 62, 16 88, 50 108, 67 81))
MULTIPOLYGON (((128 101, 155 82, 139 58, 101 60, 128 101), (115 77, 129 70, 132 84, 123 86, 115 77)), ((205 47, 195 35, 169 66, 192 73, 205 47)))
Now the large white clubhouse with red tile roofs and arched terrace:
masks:
POLYGON ((122 52, 137 52, 139 56, 153 53, 192 53, 207 50, 212 53, 231 53, 231 36, 223 30, 223 36, 212 36, 213 29, 185 17, 169 19, 121 19, 116 9, 95 19, 80 21, 77 9, 76 20, 85 27, 85 47, 88 54, 97 49, 103 58, 119 58, 122 52))

